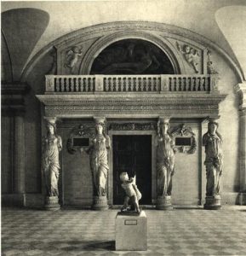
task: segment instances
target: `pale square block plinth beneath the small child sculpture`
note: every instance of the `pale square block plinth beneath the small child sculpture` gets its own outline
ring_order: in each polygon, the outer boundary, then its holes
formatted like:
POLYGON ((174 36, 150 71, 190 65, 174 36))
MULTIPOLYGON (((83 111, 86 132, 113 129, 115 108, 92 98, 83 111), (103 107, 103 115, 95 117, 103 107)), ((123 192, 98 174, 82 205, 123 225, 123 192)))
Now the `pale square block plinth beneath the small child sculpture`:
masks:
POLYGON ((146 212, 140 215, 129 212, 117 212, 116 217, 116 250, 147 250, 147 218, 146 212))

